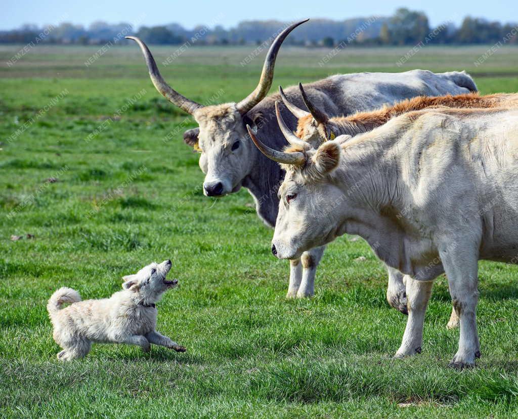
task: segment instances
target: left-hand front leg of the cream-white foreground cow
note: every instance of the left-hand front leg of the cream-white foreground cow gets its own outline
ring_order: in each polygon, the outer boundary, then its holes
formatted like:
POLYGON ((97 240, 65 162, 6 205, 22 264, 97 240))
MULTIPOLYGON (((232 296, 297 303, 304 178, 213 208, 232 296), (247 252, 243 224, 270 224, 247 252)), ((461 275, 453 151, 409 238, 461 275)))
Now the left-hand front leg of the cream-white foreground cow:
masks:
POLYGON ((409 276, 406 277, 406 283, 408 320, 401 347, 395 355, 397 358, 421 353, 424 315, 430 299, 431 288, 434 285, 434 281, 418 281, 409 276))

